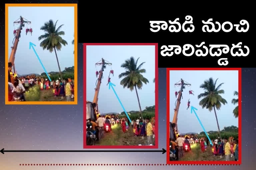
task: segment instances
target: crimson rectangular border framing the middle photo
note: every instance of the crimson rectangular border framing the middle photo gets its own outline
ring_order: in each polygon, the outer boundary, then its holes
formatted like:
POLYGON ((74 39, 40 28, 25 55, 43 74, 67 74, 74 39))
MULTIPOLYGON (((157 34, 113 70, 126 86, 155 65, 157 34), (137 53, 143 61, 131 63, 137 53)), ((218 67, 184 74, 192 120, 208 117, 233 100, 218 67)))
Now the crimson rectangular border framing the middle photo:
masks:
POLYGON ((154 149, 158 148, 158 43, 83 43, 83 148, 154 149), (88 45, 153 45, 155 46, 155 145, 86 145, 86 47, 88 45))

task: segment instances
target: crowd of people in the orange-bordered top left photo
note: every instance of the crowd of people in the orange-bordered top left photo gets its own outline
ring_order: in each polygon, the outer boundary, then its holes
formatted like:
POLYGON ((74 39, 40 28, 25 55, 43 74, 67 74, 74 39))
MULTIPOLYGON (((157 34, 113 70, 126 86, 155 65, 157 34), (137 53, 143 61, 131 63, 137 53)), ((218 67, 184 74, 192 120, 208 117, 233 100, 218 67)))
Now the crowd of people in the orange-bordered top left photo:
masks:
POLYGON ((14 82, 11 82, 10 73, 8 76, 8 101, 26 101, 24 93, 29 90, 30 87, 39 86, 41 90, 51 90, 53 96, 61 96, 64 99, 66 96, 67 101, 72 101, 74 98, 74 83, 70 78, 61 81, 49 81, 35 75, 28 75, 24 77, 14 78, 14 82))

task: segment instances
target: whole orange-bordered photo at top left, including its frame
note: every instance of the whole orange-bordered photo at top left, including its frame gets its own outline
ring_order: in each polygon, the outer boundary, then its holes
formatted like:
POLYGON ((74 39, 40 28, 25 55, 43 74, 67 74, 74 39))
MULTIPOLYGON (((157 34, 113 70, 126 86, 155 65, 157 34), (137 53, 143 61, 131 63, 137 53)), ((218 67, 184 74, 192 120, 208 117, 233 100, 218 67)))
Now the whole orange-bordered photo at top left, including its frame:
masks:
POLYGON ((77 27, 77 4, 5 4, 5 104, 77 104, 77 27))

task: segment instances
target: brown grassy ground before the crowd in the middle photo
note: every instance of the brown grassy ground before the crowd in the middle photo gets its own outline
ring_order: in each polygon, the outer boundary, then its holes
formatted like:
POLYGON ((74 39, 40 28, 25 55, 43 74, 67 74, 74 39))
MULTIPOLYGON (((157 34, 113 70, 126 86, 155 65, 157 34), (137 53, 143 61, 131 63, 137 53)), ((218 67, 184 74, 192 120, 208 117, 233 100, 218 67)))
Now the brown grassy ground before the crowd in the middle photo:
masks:
MULTIPOLYGON (((155 139, 153 139, 155 143, 155 139)), ((146 145, 147 137, 134 136, 132 127, 128 128, 125 133, 122 131, 121 125, 117 124, 112 126, 112 131, 104 133, 103 138, 97 141, 95 145, 146 145)))

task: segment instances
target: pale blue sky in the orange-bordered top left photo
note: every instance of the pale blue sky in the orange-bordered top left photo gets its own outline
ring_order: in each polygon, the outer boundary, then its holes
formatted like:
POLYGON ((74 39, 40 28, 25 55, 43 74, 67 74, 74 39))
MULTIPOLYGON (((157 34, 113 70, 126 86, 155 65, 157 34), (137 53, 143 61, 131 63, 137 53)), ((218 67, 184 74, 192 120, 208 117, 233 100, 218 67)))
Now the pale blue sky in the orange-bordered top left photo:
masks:
POLYGON ((29 49, 29 42, 36 45, 35 50, 46 71, 58 71, 55 53, 50 53, 46 49, 43 50, 42 47, 40 47, 41 41, 38 41, 38 37, 44 34, 44 32, 40 30, 40 27, 50 19, 52 19, 54 23, 58 20, 57 26, 64 24, 61 31, 64 31, 65 35, 62 36, 62 38, 68 42, 68 45, 63 46, 61 51, 57 51, 61 70, 64 70, 65 67, 74 66, 74 45, 71 43, 74 39, 74 7, 9 7, 8 58, 10 57, 12 41, 14 38, 13 30, 19 27, 19 25, 16 24, 13 26, 13 22, 16 21, 19 16, 31 21, 31 24, 25 25, 21 31, 21 38, 15 55, 15 68, 18 74, 39 74, 44 72, 32 48, 29 49), (29 34, 26 36, 25 30, 30 27, 33 29, 32 36, 29 34))

